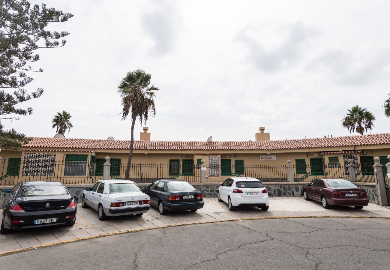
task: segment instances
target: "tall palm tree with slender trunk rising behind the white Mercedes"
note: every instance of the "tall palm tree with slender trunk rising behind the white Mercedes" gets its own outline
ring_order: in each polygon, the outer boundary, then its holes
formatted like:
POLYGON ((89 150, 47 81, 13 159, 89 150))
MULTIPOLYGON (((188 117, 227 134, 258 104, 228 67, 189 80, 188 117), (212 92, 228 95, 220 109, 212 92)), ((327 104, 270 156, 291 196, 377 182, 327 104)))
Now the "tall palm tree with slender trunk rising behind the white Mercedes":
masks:
POLYGON ((125 178, 129 178, 131 158, 133 157, 134 147, 134 125, 137 117, 140 117, 140 123, 146 124, 149 113, 154 117, 156 107, 154 106, 155 92, 159 89, 151 85, 152 76, 145 73, 142 69, 128 72, 119 84, 118 93, 122 98, 122 120, 130 114, 131 117, 131 137, 128 166, 126 168, 125 178))

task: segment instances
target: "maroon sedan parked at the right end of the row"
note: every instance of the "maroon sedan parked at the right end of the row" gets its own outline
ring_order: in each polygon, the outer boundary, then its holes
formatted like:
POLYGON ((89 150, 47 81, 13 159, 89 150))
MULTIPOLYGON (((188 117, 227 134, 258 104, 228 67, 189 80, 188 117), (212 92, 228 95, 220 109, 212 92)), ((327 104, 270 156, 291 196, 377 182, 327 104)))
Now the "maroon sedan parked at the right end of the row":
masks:
POLYGON ((355 206, 356 209, 368 205, 367 192, 345 179, 314 179, 303 187, 303 198, 319 201, 326 209, 331 205, 355 206))

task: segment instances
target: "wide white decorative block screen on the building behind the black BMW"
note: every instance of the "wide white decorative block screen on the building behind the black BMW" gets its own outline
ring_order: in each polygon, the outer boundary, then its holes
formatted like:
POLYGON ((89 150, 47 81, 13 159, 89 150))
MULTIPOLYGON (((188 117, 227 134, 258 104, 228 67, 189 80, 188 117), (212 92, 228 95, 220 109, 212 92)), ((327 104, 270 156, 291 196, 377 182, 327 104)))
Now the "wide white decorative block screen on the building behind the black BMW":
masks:
POLYGON ((23 156, 23 176, 53 175, 55 154, 25 153, 23 156))

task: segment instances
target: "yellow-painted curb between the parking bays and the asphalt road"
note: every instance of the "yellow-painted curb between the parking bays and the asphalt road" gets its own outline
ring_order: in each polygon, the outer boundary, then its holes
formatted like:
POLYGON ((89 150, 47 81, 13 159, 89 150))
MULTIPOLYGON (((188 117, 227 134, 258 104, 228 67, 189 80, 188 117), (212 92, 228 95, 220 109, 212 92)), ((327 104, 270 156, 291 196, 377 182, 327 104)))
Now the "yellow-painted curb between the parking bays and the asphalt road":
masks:
POLYGON ((282 219, 282 218, 386 218, 390 219, 390 217, 375 217, 375 216, 279 216, 279 217, 249 217, 249 218, 231 218, 231 219, 224 219, 224 220, 209 220, 209 221, 199 221, 199 222, 188 222, 188 223, 181 223, 181 224, 173 224, 173 225, 166 225, 166 226, 156 226, 156 227, 150 227, 150 228, 142 228, 142 229, 134 229, 134 230, 127 230, 127 231, 118 231, 113 233, 104 233, 104 234, 97 234, 97 235, 91 235, 81 238, 75 238, 71 240, 64 240, 64 241, 58 241, 54 243, 49 244, 42 244, 42 245, 35 245, 32 247, 25 247, 23 249, 15 249, 11 251, 5 251, 0 252, 0 257, 15 253, 20 253, 23 251, 33 250, 33 249, 40 249, 43 247, 51 247, 54 245, 60 245, 65 243, 72 243, 72 242, 78 242, 81 240, 88 240, 93 238, 101 238, 105 236, 111 236, 111 235, 118 235, 118 234, 124 234, 124 233, 135 233, 138 231, 149 231, 154 229, 164 229, 169 227, 179 227, 179 226, 187 226, 187 225, 196 225, 196 224, 207 224, 207 223, 219 223, 219 222, 226 222, 226 221, 238 221, 238 220, 259 220, 259 219, 282 219))

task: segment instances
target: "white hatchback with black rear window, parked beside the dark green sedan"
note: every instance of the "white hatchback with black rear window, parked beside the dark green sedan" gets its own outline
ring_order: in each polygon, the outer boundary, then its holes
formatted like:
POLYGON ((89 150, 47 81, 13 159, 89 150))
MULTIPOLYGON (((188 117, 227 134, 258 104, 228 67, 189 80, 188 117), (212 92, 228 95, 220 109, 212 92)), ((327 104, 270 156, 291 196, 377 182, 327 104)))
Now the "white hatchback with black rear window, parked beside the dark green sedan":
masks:
POLYGON ((269 208, 268 191, 262 183, 251 177, 227 178, 218 188, 218 201, 228 204, 229 210, 237 206, 257 206, 263 211, 269 208))

